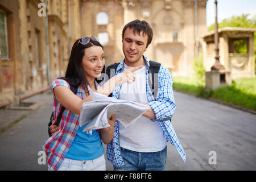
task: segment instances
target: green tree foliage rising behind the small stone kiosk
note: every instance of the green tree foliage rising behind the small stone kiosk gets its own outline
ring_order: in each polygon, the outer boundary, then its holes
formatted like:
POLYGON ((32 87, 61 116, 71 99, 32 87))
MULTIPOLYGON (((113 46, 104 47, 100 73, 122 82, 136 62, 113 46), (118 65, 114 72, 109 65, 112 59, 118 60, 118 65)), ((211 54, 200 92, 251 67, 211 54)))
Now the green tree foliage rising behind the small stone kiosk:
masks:
MULTIPOLYGON (((218 23, 218 28, 222 27, 245 27, 256 28, 256 15, 252 19, 249 19, 250 14, 242 14, 241 16, 232 16, 222 20, 218 23)), ((208 31, 214 30, 214 23, 208 27, 208 31)), ((243 44, 243 42, 241 42, 243 44)), ((241 53, 243 53, 244 46, 241 45, 241 53)), ((256 32, 254 32, 254 55, 255 55, 255 74, 256 74, 256 32)))

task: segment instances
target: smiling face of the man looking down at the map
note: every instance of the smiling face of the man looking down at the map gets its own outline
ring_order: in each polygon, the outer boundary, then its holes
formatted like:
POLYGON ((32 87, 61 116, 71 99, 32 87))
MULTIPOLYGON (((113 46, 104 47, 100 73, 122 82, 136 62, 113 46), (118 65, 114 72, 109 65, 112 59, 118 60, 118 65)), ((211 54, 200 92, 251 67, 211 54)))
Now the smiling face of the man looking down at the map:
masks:
POLYGON ((138 67, 144 65, 142 58, 147 46, 148 35, 133 32, 133 28, 127 28, 123 34, 123 54, 125 55, 125 63, 129 67, 138 67))

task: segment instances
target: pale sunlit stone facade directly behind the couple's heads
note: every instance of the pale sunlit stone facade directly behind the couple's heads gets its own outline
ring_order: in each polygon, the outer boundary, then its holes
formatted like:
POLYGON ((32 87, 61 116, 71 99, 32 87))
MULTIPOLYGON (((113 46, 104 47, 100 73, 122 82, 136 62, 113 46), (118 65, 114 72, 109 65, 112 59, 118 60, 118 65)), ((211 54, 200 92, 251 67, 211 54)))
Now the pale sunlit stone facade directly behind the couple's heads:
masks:
POLYGON ((154 36, 144 53, 170 68, 173 75, 191 75, 194 57, 207 32, 207 0, 81 1, 81 33, 100 38, 107 64, 123 59, 122 28, 134 19, 151 24, 154 36))

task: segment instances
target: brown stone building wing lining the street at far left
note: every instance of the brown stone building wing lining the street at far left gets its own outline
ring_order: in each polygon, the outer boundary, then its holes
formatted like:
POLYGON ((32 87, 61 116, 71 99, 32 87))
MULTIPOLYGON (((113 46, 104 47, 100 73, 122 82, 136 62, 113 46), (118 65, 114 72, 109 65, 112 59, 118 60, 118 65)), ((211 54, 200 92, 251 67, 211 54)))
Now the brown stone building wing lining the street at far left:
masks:
POLYGON ((18 105, 64 74, 69 57, 67 1, 47 1, 47 7, 40 6, 42 3, 45 5, 40 0, 0 1, 0 106, 18 105), (40 15, 42 8, 44 14, 40 15))

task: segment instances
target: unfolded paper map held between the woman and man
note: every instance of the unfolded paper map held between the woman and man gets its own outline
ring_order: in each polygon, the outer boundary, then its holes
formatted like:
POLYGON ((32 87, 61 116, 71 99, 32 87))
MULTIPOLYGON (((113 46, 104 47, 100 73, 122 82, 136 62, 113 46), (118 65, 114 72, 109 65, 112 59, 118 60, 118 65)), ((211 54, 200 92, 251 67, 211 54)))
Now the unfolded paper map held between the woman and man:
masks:
POLYGON ((88 123, 83 131, 102 129, 109 127, 107 118, 115 114, 115 119, 129 125, 140 117, 148 107, 133 101, 117 100, 103 94, 93 92, 89 87, 90 96, 93 101, 82 104, 79 116, 79 126, 88 123))

